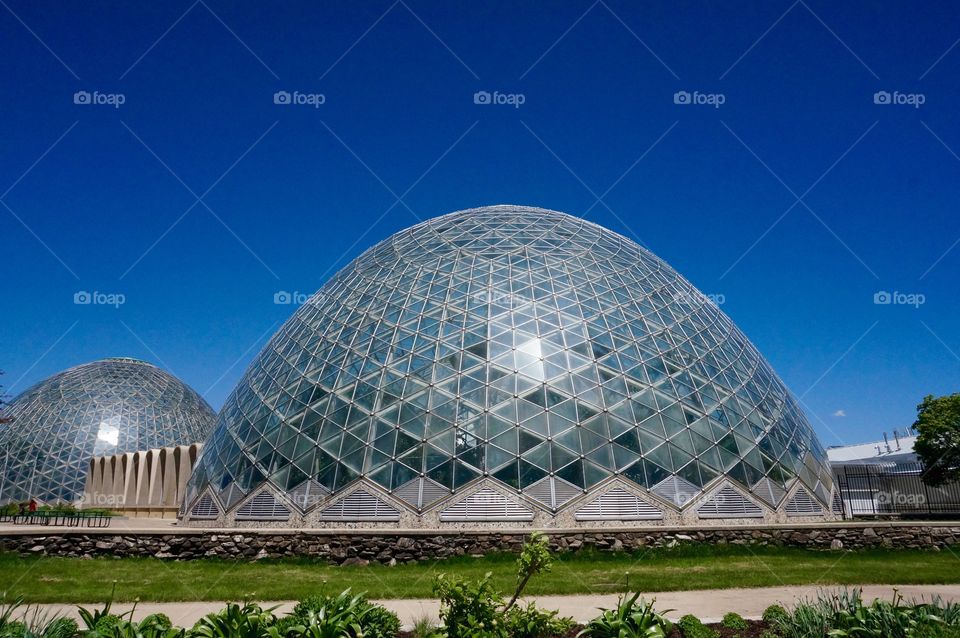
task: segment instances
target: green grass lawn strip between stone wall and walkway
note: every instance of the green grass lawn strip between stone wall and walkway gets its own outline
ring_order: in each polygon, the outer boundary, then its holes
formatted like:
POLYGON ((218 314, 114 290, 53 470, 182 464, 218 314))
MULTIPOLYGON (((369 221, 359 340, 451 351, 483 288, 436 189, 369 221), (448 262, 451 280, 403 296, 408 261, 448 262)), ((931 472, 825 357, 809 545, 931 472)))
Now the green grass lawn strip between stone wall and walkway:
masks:
MULTIPOLYGON (((552 572, 527 593, 614 593, 777 585, 960 583, 960 548, 943 552, 685 546, 637 553, 560 554, 552 572)), ((326 588, 352 587, 372 598, 430 598, 440 573, 481 578, 493 573, 502 591, 515 583, 515 556, 458 557, 386 567, 335 567, 310 559, 184 562, 151 558, 50 558, 0 554, 0 591, 27 602, 105 600, 295 600, 326 588)))

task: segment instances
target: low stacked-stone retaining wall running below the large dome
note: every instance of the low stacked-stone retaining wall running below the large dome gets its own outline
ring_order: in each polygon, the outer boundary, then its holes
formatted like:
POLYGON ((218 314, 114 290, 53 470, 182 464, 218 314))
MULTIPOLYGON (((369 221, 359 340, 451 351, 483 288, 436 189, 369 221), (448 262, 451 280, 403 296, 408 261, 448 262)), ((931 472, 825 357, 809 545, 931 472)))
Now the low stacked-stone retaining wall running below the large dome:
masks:
MULTIPOLYGON (((0 551, 45 556, 153 556, 256 560, 317 556, 339 565, 405 563, 455 555, 518 551, 529 532, 210 531, 110 532, 77 530, 0 533, 0 551)), ((820 527, 551 530, 555 550, 600 551, 669 547, 678 543, 785 545, 810 549, 933 549, 960 544, 960 524, 877 523, 820 527)))

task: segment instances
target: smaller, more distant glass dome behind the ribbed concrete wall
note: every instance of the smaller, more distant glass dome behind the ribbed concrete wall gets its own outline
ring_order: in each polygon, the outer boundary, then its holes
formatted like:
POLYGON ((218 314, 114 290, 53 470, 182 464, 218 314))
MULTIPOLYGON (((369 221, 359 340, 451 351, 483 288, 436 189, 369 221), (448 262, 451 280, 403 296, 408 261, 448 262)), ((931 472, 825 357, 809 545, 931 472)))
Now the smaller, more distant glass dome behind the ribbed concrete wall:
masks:
POLYGON ((64 370, 10 402, 0 425, 0 503, 74 502, 94 456, 203 441, 216 415, 176 377, 136 359, 64 370))

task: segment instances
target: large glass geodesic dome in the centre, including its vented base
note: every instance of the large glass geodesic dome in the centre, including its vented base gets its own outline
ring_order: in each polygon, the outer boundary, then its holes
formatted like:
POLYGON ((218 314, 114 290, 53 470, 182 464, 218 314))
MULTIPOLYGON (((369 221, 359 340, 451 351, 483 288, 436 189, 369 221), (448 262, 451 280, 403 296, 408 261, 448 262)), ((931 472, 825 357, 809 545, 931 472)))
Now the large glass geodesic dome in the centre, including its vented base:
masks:
POLYGON ((826 462, 770 366, 670 266, 582 219, 495 206, 397 233, 303 305, 227 399, 184 515, 825 515, 826 462))

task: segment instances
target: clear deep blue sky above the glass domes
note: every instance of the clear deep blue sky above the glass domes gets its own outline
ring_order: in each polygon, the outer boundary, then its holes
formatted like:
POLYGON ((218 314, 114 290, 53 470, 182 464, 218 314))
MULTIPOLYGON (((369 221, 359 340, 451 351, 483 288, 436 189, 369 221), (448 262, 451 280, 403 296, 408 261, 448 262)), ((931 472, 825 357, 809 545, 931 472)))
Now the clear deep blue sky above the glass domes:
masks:
POLYGON ((495 203, 718 295, 827 445, 960 385, 956 4, 0 5, 12 394, 123 355, 219 408, 293 311, 276 292, 495 203))

